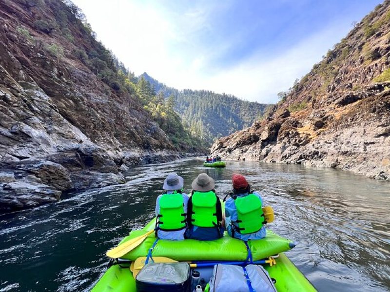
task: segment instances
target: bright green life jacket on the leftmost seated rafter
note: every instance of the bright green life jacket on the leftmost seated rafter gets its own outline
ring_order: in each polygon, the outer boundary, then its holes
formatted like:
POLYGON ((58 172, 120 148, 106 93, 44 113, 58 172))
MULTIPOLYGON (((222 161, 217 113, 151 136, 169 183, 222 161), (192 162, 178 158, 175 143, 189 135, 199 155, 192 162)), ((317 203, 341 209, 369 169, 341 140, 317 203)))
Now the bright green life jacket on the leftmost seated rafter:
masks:
POLYGON ((186 227, 184 200, 181 194, 164 194, 159 200, 159 205, 158 229, 175 231, 186 227))

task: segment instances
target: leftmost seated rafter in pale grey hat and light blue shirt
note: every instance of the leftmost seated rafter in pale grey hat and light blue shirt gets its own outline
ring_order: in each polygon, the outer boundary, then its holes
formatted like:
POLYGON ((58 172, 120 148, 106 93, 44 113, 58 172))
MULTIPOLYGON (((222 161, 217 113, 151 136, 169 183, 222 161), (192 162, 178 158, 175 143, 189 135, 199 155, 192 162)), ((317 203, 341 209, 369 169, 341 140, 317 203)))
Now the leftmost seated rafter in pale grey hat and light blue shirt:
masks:
POLYGON ((184 180, 176 173, 164 180, 163 195, 156 200, 156 236, 160 239, 183 240, 187 228, 188 195, 182 193, 184 180))

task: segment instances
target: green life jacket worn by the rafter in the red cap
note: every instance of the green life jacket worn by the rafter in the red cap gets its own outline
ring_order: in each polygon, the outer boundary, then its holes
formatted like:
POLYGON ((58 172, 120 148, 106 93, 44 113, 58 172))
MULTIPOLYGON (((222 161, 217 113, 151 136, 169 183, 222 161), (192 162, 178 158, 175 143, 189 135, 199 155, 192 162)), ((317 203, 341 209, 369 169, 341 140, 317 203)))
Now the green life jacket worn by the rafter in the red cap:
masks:
POLYGON ((237 209, 238 232, 241 234, 255 233, 265 224, 261 200, 255 194, 249 194, 234 199, 237 209))

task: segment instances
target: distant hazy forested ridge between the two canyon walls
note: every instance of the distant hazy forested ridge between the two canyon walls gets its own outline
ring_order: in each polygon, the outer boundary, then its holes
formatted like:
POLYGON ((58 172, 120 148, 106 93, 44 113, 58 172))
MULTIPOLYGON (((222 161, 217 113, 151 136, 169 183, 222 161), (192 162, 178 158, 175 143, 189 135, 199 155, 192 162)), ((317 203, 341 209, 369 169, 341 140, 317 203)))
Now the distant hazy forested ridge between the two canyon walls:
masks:
POLYGON ((179 91, 158 82, 147 73, 143 73, 139 79, 149 82, 160 97, 174 96, 175 110, 181 115, 184 127, 206 145, 213 143, 215 138, 250 127, 262 118, 269 107, 238 99, 231 94, 189 89, 179 91))

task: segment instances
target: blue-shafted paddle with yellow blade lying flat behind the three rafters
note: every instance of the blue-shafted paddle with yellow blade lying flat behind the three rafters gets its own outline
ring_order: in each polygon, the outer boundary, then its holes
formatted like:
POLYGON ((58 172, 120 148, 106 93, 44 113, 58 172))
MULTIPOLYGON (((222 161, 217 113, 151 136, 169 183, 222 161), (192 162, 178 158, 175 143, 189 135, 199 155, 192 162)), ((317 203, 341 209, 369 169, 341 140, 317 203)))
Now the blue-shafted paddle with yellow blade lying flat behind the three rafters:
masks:
MULTIPOLYGON (((146 256, 141 256, 136 259, 134 264, 132 263, 130 270, 133 272, 134 278, 137 276, 139 271, 145 266, 146 256)), ((154 256, 153 260, 150 259, 150 262, 155 263, 178 263, 178 261, 164 256, 154 256)), ((217 264, 226 264, 226 265, 245 265, 248 264, 246 261, 216 261, 216 262, 188 262, 191 268, 200 268, 200 267, 213 267, 217 264)), ((263 265, 270 264, 273 266, 276 264, 276 261, 273 258, 262 259, 252 262, 254 265, 263 265)))

